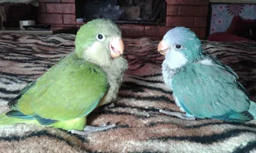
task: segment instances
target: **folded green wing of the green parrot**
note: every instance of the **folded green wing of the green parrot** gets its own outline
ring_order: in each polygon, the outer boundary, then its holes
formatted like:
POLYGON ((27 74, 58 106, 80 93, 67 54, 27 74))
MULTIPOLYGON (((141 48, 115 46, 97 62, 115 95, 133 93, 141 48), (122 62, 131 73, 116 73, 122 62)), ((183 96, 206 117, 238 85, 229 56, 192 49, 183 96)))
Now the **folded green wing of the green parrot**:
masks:
POLYGON ((106 74, 95 64, 70 54, 52 66, 10 108, 51 120, 83 117, 108 90, 106 74))

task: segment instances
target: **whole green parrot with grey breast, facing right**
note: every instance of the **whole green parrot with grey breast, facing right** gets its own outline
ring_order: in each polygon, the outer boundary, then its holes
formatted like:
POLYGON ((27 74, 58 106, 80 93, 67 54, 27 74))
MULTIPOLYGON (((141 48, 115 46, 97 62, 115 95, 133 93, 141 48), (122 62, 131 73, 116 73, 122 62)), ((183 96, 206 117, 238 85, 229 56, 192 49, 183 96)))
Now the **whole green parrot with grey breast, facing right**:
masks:
POLYGON ((81 26, 75 50, 28 84, 0 115, 0 126, 38 124, 86 135, 115 127, 86 126, 97 106, 117 98, 127 61, 122 32, 108 19, 81 26))

